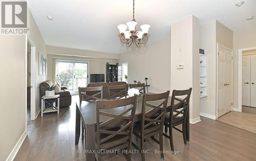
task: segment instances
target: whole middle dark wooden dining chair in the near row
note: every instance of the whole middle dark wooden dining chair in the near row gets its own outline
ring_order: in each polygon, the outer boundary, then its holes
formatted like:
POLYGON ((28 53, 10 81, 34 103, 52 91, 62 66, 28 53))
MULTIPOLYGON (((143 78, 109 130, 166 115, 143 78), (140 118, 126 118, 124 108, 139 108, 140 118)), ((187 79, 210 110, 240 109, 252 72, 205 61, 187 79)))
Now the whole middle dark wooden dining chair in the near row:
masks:
MULTIPOLYGON (((134 135, 140 139, 140 148, 132 143, 136 149, 141 151, 142 160, 145 160, 144 140, 147 138, 152 138, 157 142, 160 150, 163 151, 163 122, 168 97, 169 91, 143 95, 141 121, 135 123, 133 131, 134 135), (157 134, 159 134, 159 140, 154 138, 157 134)), ((164 158, 163 153, 161 153, 161 157, 164 158)))

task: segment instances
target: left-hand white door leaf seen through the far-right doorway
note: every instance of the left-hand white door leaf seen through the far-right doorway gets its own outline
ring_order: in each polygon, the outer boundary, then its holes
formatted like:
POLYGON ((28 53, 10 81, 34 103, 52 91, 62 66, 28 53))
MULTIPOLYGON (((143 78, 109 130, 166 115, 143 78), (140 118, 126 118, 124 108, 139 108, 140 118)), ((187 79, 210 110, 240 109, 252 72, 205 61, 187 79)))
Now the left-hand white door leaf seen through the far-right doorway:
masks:
MULTIPOLYGON (((256 65, 256 64, 255 64, 256 65)), ((242 57, 242 104, 250 106, 251 96, 251 57, 242 57)))

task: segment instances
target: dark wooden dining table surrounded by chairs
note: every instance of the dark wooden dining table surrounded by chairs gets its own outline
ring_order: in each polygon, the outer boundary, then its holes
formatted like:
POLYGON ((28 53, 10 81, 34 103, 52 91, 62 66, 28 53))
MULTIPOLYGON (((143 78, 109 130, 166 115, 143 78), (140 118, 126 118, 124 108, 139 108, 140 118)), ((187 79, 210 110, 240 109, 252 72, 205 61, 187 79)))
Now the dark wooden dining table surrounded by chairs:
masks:
MULTIPOLYGON (((153 93, 147 93, 147 94, 153 94, 153 93)), ((134 121, 140 121, 141 120, 141 111, 142 111, 142 100, 143 100, 143 94, 140 94, 138 96, 137 104, 136 104, 136 111, 135 111, 135 116, 134 116, 134 121)), ((170 112, 170 102, 172 100, 172 97, 168 97, 168 102, 167 102, 167 108, 166 112, 170 112)), ((153 105, 159 105, 162 101, 157 100, 157 101, 151 101, 151 104, 153 105)), ((179 101, 175 100, 175 104, 178 103, 179 101)), ((118 108, 113 108, 113 109, 106 109, 108 113, 113 113, 113 114, 119 114, 123 112, 127 107, 118 107, 118 108)), ((188 105, 189 108, 189 105, 188 105)), ((145 108, 145 112, 151 110, 152 108, 147 107, 145 108)), ((129 115, 129 113, 127 114, 129 115)), ((109 118, 101 118, 101 121, 106 121, 109 118)), ((90 151, 89 153, 86 153, 86 160, 95 160, 95 153, 92 151, 96 150, 95 148, 95 143, 96 143, 96 138, 95 138, 95 132, 96 132, 96 101, 95 100, 89 100, 89 101, 79 101, 76 102, 76 125, 75 125, 75 145, 78 144, 79 138, 80 138, 80 133, 81 133, 81 121, 83 124, 86 126, 86 151, 90 151)), ((186 140, 189 141, 189 109, 187 112, 187 117, 186 117, 186 140)))

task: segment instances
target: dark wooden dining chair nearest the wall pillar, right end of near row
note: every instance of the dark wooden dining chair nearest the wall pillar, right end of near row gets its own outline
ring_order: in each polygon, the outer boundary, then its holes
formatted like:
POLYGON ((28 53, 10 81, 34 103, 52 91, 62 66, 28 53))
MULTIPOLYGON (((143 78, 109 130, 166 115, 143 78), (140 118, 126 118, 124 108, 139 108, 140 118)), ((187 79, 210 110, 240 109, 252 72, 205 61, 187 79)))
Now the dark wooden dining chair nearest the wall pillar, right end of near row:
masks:
POLYGON ((186 117, 189 110, 189 99, 191 95, 192 88, 188 90, 173 90, 172 100, 170 102, 170 112, 166 113, 164 116, 164 129, 167 133, 167 128, 169 128, 169 136, 163 133, 170 141, 170 149, 174 151, 174 142, 173 142, 173 128, 182 132, 184 144, 186 141, 186 117), (177 98, 184 97, 184 98, 177 98), (182 130, 178 129, 176 126, 182 124, 182 130))

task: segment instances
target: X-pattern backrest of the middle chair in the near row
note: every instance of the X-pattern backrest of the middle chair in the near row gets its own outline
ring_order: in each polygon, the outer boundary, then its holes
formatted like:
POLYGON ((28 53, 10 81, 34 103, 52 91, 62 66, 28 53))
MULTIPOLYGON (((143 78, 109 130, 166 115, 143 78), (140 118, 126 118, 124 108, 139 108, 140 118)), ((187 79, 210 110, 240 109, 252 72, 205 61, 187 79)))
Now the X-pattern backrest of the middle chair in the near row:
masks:
POLYGON ((154 133, 157 130, 162 130, 168 97, 169 91, 160 94, 143 95, 141 112, 142 135, 154 133), (154 103, 152 101, 154 101, 154 103), (146 108, 150 108, 150 110, 145 112, 146 108))

